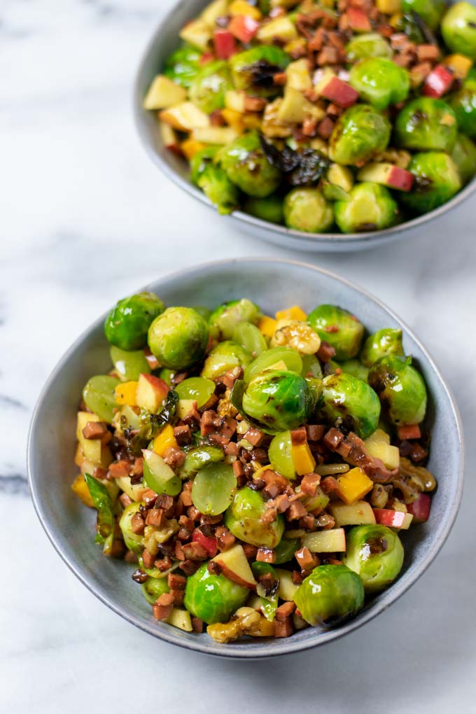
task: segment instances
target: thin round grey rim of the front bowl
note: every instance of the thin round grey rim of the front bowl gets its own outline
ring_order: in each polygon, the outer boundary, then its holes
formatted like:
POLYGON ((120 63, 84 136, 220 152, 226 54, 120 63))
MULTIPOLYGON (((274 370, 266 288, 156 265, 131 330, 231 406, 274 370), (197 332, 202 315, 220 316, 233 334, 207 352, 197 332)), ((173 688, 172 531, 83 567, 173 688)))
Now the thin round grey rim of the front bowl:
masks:
POLYGON ((38 401, 36 402, 36 406, 34 408, 33 414, 31 416, 31 423, 30 423, 30 428, 29 428, 29 434, 28 434, 28 442, 27 442, 27 452, 26 452, 26 466, 27 466, 27 477, 28 477, 28 484, 29 484, 29 491, 31 495, 31 500, 33 501, 34 509, 36 511, 36 515, 39 518, 39 521, 41 523, 41 526, 44 528, 44 531, 46 535, 48 536, 51 544, 53 545, 54 549, 56 552, 60 555, 61 559, 64 560, 64 563, 68 565, 70 570, 76 575, 79 580, 81 580, 81 583, 88 588, 88 590, 93 593, 93 595, 96 595, 96 598, 98 600, 101 600, 102 603, 108 606, 113 612, 117 613, 118 615, 121 615, 121 617, 124 620, 127 620, 129 623, 136 625, 139 629, 161 639, 164 640, 168 643, 174 644, 174 645, 179 645, 185 649, 188 650, 193 650, 196 652, 201 652, 204 654, 208 655, 214 655, 218 656, 221 658, 231 658, 231 659, 244 659, 244 660, 253 660, 253 659, 261 659, 261 658, 271 658, 271 657, 277 657, 280 655, 285 655, 285 654, 291 654, 295 652, 300 652, 303 650, 308 650, 311 648, 318 647, 320 645, 324 645, 325 643, 330 642, 331 640, 337 640, 340 637, 343 637, 344 635, 347 635, 354 630, 357 630, 361 626, 365 625, 365 623, 369 622, 370 620, 373 620, 373 618, 377 617, 382 613, 384 610, 386 610, 390 605, 393 605, 396 600, 398 600, 403 593, 405 593, 407 590, 410 589, 412 585, 416 583, 416 581, 421 577, 423 573, 425 573, 425 570, 430 566, 433 560, 435 560, 435 557, 437 554, 440 552, 442 546, 444 545, 445 541, 447 540, 447 537, 452 529, 452 526, 455 523, 455 519, 457 517, 458 510, 460 508, 460 503, 461 503, 461 497, 462 497, 462 486, 463 486, 463 479, 464 479, 464 468, 465 468, 465 439, 464 439, 464 434, 462 431, 462 422, 461 422, 461 417, 460 417, 460 412, 457 407, 457 403, 455 401, 455 397, 452 394, 452 391, 450 387, 447 385, 447 382, 445 381, 445 378, 443 378, 442 374, 440 373, 439 368, 435 364, 435 361, 433 360, 432 356, 430 353, 428 353, 427 349, 422 345, 420 340, 415 336, 415 334, 412 332, 412 330, 407 326, 407 324, 400 319, 388 306, 385 305, 382 301, 380 301, 378 298, 373 296, 371 293, 366 291, 364 288, 361 288, 360 286, 355 285, 352 281, 349 281, 347 278, 343 278, 341 276, 336 275, 332 271, 328 271, 326 268, 321 268, 318 266, 313 265, 312 263, 305 263, 304 261, 294 261, 294 260, 288 260, 285 258, 266 258, 266 257, 248 257, 248 258, 226 258, 220 261, 208 261, 206 263, 199 263, 196 266, 191 266, 190 268, 182 268, 179 271, 173 271, 173 273, 167 273, 164 276, 161 276, 161 278, 158 278, 158 281, 154 281, 154 283, 148 283, 148 285, 144 286, 141 288, 142 290, 150 290, 152 285, 164 281, 164 282, 170 282, 173 281, 174 279, 181 277, 183 278, 184 276, 193 276, 194 274, 198 273, 206 273, 208 271, 216 271, 218 270, 221 266, 238 266, 241 268, 243 266, 243 263, 273 263, 278 266, 288 266, 288 265, 293 265, 298 268, 305 268, 306 270, 313 271, 315 273, 318 273, 323 276, 327 276, 334 281, 337 281, 338 283, 341 283, 343 286, 350 288, 353 291, 356 291, 360 293, 361 296, 366 298, 367 301, 370 301, 372 303, 375 303, 380 308, 383 308, 388 315, 393 318, 401 327, 402 329, 407 333, 412 340, 415 341, 417 346, 420 348, 422 351, 422 354, 425 356, 425 359, 427 360, 427 365, 432 369, 432 371, 435 373, 437 376, 438 381, 440 382, 442 389, 445 391, 446 396, 448 398, 448 401, 450 403, 450 407, 452 408, 452 413, 455 418, 455 426, 456 426, 456 431, 457 431, 457 443, 459 447, 459 452, 457 453, 457 456, 459 457, 459 463, 460 463, 460 468, 457 473, 457 482, 456 482, 456 488, 455 488, 455 495, 454 498, 452 498, 452 501, 450 503, 450 508, 448 509, 447 516, 445 518, 445 524, 444 527, 440 533, 440 538, 437 540, 434 540, 433 542, 430 542, 429 547, 427 549, 427 553, 425 554, 425 557, 422 560, 422 563, 420 565, 420 568, 415 571, 415 573, 412 573, 410 579, 406 583, 402 583, 401 580, 396 580, 395 583, 391 586, 391 588, 387 591, 389 593, 390 601, 382 601, 378 603, 372 603, 370 607, 368 607, 367 610, 363 610, 363 612, 360 614, 360 617, 358 619, 353 619, 349 620, 348 623, 345 623, 344 625, 341 625, 339 628, 336 629, 330 629, 330 630, 325 630, 324 632, 319 631, 319 641, 318 642, 313 642, 312 639, 305 641, 304 643, 295 641, 293 642, 293 638, 286 638, 280 641, 279 644, 276 644, 275 647, 273 648, 273 651, 266 651, 268 648, 267 643, 263 643, 263 645, 258 648, 258 646, 255 644, 253 649, 250 648, 250 650, 234 650, 233 645, 231 645, 230 648, 228 648, 228 645, 217 645, 216 643, 213 643, 212 641, 210 643, 206 642, 203 643, 203 640, 196 638, 196 640, 191 640, 191 641, 184 641, 179 637, 178 634, 173 632, 173 628, 170 628, 170 630, 167 629, 159 629, 157 628, 151 621, 144 621, 141 620, 140 617, 134 615, 133 612, 130 610, 127 610, 126 608, 121 607, 121 605, 117 605, 116 603, 113 602, 113 598, 109 598, 107 595, 103 595, 99 590, 96 590, 96 588, 93 586, 88 581, 88 578, 86 575, 83 575, 81 573, 81 567, 79 565, 76 565, 76 563, 71 562, 69 559, 69 556, 67 553, 64 551, 63 545, 62 545, 62 534, 58 533, 54 526, 49 523, 48 518, 46 516, 46 513, 44 513, 42 507, 41 507, 41 498, 40 498, 40 490, 39 487, 36 483, 36 467, 35 467, 35 448, 34 448, 34 433, 36 431, 36 424, 39 419, 39 413, 41 411, 41 406, 43 404, 44 398, 46 397, 47 393, 49 392, 49 389, 51 388, 52 383, 56 380, 56 376, 58 373, 64 368, 66 363, 69 361, 69 358, 71 357, 72 354, 76 351, 78 346, 91 334, 93 330, 98 328, 98 326, 103 323, 106 315, 102 315, 99 318, 97 318, 93 323, 91 323, 88 328, 86 328, 81 335, 76 338, 74 343, 69 347, 68 350, 64 353, 64 355, 59 359, 59 361, 56 363, 56 366, 54 366, 53 371, 51 371, 49 378, 46 380, 46 383, 44 385, 44 388, 41 390, 41 393, 39 395, 38 401))

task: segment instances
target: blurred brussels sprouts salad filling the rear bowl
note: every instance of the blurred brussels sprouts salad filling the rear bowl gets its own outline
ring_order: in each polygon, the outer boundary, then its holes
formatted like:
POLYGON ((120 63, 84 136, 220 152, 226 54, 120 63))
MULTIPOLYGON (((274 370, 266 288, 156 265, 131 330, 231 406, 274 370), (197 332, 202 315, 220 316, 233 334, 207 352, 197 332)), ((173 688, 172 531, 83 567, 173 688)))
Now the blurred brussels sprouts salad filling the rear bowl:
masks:
POLYGON ((476 8, 444 0, 215 0, 143 107, 220 213, 388 228, 476 172, 476 8))

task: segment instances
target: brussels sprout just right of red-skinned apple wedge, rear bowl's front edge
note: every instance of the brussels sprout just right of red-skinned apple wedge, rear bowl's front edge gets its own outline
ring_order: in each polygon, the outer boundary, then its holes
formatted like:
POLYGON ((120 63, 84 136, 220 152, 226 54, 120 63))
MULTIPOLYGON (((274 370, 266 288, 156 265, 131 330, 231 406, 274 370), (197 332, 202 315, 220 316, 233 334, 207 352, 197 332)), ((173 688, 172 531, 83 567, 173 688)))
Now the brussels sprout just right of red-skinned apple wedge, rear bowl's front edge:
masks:
POLYGON ((442 151, 414 154, 407 170, 415 175, 415 183, 412 191, 401 193, 401 201, 414 213, 432 211, 461 188, 457 166, 442 151))

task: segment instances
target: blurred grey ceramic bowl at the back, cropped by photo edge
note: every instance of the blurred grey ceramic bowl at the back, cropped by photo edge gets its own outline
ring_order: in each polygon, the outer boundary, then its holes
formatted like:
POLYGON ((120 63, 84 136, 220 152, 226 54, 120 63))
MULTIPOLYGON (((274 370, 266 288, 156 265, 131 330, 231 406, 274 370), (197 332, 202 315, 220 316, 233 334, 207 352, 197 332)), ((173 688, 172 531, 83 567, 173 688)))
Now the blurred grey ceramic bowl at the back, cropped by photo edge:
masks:
MULTIPOLYGON (((136 126, 143 145, 151 156, 151 159, 161 169, 168 178, 181 186, 184 191, 190 193, 194 198, 206 203, 213 208, 208 198, 202 191, 190 181, 188 175, 188 164, 183 159, 168 151, 158 131, 156 112, 142 109, 143 97, 146 95, 151 81, 164 65, 166 58, 176 49, 179 43, 178 32, 187 21, 193 19, 208 4, 209 0, 181 0, 174 6, 161 21, 139 66, 136 86, 134 90, 134 114, 136 126)), ((476 178, 457 193, 451 201, 448 201, 435 211, 425 213, 424 216, 406 221, 399 226, 387 228, 385 231, 366 231, 363 233, 303 233, 303 231, 292 231, 284 226, 276 226, 267 221, 260 221, 248 213, 235 211, 231 216, 216 216, 216 220, 232 221, 237 227, 243 228, 248 233, 253 233, 257 238, 285 248, 295 248, 298 251, 358 251, 365 248, 373 248, 385 243, 390 243, 397 238, 409 236, 413 228, 420 228, 428 221, 432 221, 443 213, 455 208, 462 201, 476 190, 476 178)))

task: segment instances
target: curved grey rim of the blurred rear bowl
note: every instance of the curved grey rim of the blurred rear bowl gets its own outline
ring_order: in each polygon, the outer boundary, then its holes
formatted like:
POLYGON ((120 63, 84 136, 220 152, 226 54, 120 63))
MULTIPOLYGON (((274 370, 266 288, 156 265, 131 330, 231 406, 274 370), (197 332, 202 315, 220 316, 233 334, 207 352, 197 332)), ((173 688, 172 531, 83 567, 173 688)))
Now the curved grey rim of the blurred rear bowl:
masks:
MULTIPOLYGON (((167 163, 167 161, 163 159, 163 157, 158 154, 157 151, 155 151, 151 144, 151 141, 149 140, 148 131, 144 124, 144 116, 146 110, 142 108, 143 96, 141 94, 141 79, 143 76, 143 72, 146 68, 148 56, 151 54, 153 49, 155 49, 156 44, 158 44, 158 41, 163 35, 163 32, 166 30, 167 24, 173 19, 173 16, 176 14, 178 9, 181 7, 186 7, 187 5, 188 0, 178 0, 175 4, 173 4, 171 10, 168 11, 158 22, 155 31, 153 31, 151 38, 146 44, 146 49, 143 51, 141 61, 136 71, 136 79, 134 80, 133 84, 134 124, 136 125, 136 130, 141 139, 141 144, 143 145, 146 154, 148 154, 153 163, 156 164, 159 169, 161 169, 163 174, 170 178, 171 181, 176 184, 176 186, 180 186, 180 188, 186 191, 189 196, 193 196, 193 198, 196 198, 196 200, 200 201, 201 203, 205 203, 206 206, 212 208, 213 211, 216 212, 215 206, 213 206, 213 203, 209 201, 203 191, 200 191, 199 188, 197 188, 193 185, 193 183, 191 183, 191 181, 180 176, 180 174, 178 174, 167 163)), ((232 221, 234 220, 237 223, 245 223, 245 226, 247 226, 248 228, 255 228, 260 231, 270 231, 270 233, 274 233, 277 236, 281 236, 281 238, 283 239, 290 238, 288 247, 296 248, 298 250, 306 249, 299 247, 299 243, 301 243, 302 246, 303 242, 308 243, 308 248, 312 248, 312 246, 318 246, 320 243, 322 243, 323 246, 327 246, 329 248, 333 242, 335 242, 336 250, 338 250, 339 246, 343 246, 346 243, 348 243, 350 246, 355 246, 356 248, 358 248, 365 245, 370 246, 371 243, 389 242, 394 236, 398 236, 401 233, 405 233, 406 231, 412 231, 415 228, 419 228, 420 226, 425 225, 425 223, 428 223, 429 221, 432 221, 435 218, 442 216, 443 213, 451 211, 452 208, 456 208, 456 206, 459 206, 462 201, 465 201, 466 198, 469 198, 469 196, 471 196, 472 193, 475 193, 475 191, 476 176, 474 176, 472 180, 467 183, 466 186, 463 186, 460 191, 455 193, 455 196, 450 198, 450 201, 442 203, 441 206, 434 208, 432 211, 422 213, 421 216, 410 218, 410 221, 403 221, 402 223, 397 223, 396 226, 390 226, 390 228, 383 228, 383 230, 380 231, 361 231, 360 233, 308 233, 305 231, 297 231, 293 228, 286 228, 286 226, 280 226, 278 223, 270 223, 270 221, 263 221, 261 218, 255 218, 255 216, 251 216, 250 213, 245 213, 245 211, 233 211, 233 213, 229 214, 229 216, 221 216, 221 218, 231 218, 232 221)))

